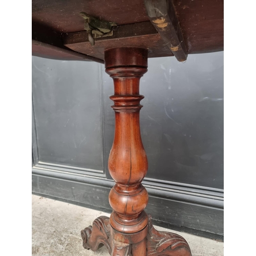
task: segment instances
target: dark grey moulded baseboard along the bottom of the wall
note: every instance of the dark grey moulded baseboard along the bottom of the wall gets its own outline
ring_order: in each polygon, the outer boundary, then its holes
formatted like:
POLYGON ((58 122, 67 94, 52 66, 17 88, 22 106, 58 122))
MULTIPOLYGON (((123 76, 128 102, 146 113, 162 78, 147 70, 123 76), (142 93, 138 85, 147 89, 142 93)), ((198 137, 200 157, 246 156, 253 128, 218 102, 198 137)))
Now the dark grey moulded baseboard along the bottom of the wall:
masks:
MULTIPOLYGON (((104 178, 32 168, 32 193, 63 202, 111 212, 108 195, 114 182, 104 178)), ((146 212, 156 225, 223 240, 222 197, 144 184, 149 194, 146 212)))

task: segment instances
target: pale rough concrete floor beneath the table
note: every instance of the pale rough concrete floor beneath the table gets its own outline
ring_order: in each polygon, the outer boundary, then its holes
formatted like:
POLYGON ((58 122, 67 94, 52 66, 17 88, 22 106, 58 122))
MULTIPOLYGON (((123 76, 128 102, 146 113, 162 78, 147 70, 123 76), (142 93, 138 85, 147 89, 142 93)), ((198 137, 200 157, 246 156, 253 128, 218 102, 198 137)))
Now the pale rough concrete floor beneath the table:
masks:
MULTIPOLYGON (((32 195, 32 255, 107 256, 105 247, 98 251, 83 249, 80 230, 91 225, 104 212, 32 195)), ((223 243, 155 226, 184 237, 193 256, 222 256, 223 243)))

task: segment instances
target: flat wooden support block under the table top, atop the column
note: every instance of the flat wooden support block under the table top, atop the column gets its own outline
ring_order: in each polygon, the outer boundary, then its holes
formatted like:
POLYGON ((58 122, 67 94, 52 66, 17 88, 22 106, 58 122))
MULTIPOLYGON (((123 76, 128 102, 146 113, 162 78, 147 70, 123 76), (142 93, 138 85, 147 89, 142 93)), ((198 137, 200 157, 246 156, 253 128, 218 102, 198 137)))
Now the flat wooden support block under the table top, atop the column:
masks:
POLYGON ((89 42, 87 31, 65 33, 62 36, 63 45, 66 47, 99 59, 104 59, 105 50, 120 47, 147 49, 150 58, 173 56, 149 21, 113 27, 110 35, 94 37, 94 46, 91 46, 89 42))

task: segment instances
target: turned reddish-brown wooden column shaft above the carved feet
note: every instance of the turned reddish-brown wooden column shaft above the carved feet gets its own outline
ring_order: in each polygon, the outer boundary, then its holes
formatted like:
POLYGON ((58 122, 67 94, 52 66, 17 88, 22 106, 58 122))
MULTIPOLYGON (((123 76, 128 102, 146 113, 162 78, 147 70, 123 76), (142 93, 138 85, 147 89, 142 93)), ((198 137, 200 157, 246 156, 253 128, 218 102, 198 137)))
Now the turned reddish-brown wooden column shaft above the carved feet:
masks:
MULTIPOLYGON (((147 158, 140 137, 139 81, 147 71, 147 50, 116 48, 105 51, 105 68, 114 80, 115 137, 109 157, 109 172, 116 185, 110 191, 112 227, 135 233, 147 225, 143 211, 148 195, 141 185, 147 172, 147 158)), ((146 232, 145 232, 146 235, 146 232)), ((142 238, 143 239, 143 238, 142 238)), ((140 241, 137 241, 140 242, 140 241)))

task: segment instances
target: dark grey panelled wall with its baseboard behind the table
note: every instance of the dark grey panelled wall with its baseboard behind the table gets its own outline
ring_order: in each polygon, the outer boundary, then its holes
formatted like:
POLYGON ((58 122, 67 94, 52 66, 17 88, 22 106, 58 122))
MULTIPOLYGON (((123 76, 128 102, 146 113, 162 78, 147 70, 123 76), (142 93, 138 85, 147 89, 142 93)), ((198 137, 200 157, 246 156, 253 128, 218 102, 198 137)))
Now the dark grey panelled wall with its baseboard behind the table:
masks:
MULTIPOLYGON (((222 239, 223 52, 149 59, 140 84, 146 211, 155 224, 222 239)), ((32 57, 33 194, 111 211, 112 94, 99 63, 32 57)))

